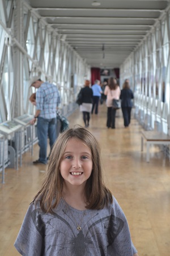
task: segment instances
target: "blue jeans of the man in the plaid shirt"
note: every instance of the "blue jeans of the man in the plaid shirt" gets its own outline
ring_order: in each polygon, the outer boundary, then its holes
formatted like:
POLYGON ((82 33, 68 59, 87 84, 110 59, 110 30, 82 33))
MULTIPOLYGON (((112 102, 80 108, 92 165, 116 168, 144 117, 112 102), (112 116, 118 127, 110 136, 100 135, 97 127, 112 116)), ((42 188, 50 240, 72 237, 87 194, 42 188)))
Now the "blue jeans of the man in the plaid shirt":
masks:
POLYGON ((53 144, 57 139, 56 122, 57 118, 45 119, 42 117, 38 117, 37 135, 40 147, 39 161, 42 163, 46 163, 47 139, 49 138, 50 150, 52 149, 53 144))

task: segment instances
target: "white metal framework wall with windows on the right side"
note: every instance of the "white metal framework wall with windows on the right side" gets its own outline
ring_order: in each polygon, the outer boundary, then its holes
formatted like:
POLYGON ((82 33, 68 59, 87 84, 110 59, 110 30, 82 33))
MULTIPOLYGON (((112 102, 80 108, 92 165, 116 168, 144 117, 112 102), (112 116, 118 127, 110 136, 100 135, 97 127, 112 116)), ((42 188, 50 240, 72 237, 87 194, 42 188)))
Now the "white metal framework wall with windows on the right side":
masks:
POLYGON ((121 82, 129 78, 135 92, 170 105, 170 11, 152 27, 121 65, 121 82))

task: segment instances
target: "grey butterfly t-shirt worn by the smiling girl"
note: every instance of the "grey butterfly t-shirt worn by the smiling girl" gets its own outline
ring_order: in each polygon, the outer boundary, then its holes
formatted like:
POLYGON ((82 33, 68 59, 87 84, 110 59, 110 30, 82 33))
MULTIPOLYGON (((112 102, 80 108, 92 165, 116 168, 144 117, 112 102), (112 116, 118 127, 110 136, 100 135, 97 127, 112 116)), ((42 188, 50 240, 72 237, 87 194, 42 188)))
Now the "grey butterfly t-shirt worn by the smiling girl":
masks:
POLYGON ((102 210, 76 210, 61 199, 54 214, 29 205, 14 246, 24 256, 133 256, 125 214, 116 199, 102 210), (78 230, 78 225, 81 230, 78 230))

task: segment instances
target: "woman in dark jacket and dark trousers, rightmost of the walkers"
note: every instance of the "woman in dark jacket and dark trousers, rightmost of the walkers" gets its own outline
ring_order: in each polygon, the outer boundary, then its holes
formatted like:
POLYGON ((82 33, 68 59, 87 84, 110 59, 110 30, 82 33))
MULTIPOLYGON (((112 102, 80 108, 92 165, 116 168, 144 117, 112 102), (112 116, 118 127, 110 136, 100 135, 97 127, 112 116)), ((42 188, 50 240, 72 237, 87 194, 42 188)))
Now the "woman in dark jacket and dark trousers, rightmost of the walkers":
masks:
POLYGON ((129 80, 126 79, 123 85, 123 89, 121 90, 120 99, 121 99, 121 108, 124 116, 124 126, 128 127, 130 124, 130 113, 133 103, 131 99, 133 99, 133 92, 130 89, 129 80))

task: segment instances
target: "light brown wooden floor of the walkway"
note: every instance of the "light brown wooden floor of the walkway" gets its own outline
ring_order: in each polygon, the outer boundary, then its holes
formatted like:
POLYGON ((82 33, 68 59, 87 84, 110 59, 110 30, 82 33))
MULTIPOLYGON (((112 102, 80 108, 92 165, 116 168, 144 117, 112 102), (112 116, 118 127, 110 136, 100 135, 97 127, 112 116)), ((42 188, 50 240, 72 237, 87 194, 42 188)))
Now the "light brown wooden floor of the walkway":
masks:
MULTIPOLYGON (((93 114, 90 131, 101 144, 104 180, 128 218, 131 237, 140 256, 170 255, 170 163, 152 147, 146 163, 146 144, 141 152, 142 130, 136 119, 124 128, 121 110, 116 129, 107 129, 107 108, 99 106, 93 114)), ((70 127, 83 125, 82 113, 76 110, 68 118, 70 127)), ((5 184, 0 186, 0 255, 17 256, 14 241, 25 212, 40 187, 45 166, 33 166, 39 147, 23 155, 18 171, 6 169, 5 184)), ((1 177, 1 175, 0 175, 1 177)))

